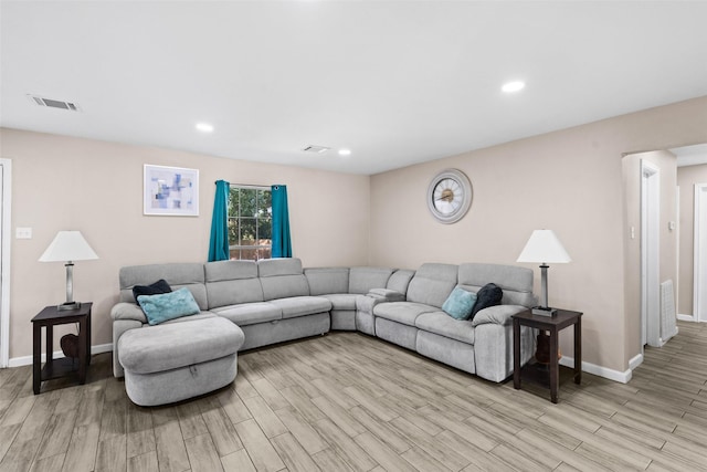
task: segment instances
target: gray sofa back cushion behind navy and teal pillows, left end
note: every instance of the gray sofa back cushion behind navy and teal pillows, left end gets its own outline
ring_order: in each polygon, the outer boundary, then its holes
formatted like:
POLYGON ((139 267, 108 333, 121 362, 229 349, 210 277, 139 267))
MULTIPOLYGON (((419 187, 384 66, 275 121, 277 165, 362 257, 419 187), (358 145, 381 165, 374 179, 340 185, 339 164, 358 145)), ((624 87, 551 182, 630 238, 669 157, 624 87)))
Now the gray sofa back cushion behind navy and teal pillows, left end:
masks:
POLYGON ((135 285, 149 285, 165 279, 172 291, 186 286, 194 296, 200 310, 208 310, 207 287, 202 263, 170 263, 128 265, 120 268, 118 283, 120 284, 120 302, 133 302, 135 285))

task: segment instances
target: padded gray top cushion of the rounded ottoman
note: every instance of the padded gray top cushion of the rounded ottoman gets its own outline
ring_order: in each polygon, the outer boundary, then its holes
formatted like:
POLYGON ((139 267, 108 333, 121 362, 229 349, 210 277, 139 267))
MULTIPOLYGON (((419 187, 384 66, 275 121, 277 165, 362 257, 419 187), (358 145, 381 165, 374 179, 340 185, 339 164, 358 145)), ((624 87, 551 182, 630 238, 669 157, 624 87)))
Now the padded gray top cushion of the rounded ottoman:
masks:
POLYGON ((120 336, 119 360, 135 374, 161 373, 233 355, 244 339, 240 327, 219 317, 148 326, 120 336))

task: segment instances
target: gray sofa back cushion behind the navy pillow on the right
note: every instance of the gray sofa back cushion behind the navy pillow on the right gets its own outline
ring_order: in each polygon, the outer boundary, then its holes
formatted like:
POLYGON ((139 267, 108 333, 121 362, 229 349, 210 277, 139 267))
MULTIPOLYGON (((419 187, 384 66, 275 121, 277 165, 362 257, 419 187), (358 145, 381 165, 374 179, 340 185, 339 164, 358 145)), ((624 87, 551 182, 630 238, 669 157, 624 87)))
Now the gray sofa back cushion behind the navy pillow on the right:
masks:
POLYGON ((487 283, 495 283, 504 291, 502 304, 532 306, 532 270, 515 265, 464 263, 460 265, 458 284, 462 289, 478 292, 487 283))

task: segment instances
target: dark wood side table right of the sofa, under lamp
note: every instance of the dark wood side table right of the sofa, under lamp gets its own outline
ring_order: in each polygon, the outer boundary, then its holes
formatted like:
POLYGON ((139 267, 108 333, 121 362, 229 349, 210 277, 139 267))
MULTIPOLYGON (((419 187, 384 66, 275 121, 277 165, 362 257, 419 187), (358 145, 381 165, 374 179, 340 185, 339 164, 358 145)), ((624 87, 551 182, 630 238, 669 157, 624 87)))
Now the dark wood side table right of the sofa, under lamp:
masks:
POLYGON ((582 313, 558 310, 555 316, 534 315, 530 310, 513 316, 513 386, 520 388, 520 326, 550 332, 550 400, 557 403, 559 388, 560 331, 574 325, 574 384, 582 381, 582 313))

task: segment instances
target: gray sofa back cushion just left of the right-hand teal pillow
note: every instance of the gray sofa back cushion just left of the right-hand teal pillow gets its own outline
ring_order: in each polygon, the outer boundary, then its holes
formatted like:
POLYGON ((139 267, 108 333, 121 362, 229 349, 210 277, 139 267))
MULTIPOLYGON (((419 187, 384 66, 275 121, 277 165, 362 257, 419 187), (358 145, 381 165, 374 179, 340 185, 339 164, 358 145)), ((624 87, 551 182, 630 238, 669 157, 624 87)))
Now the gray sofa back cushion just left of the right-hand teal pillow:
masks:
POLYGON ((454 264, 422 264, 408 286, 408 301, 442 308, 456 286, 457 273, 454 264))

